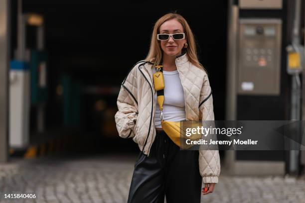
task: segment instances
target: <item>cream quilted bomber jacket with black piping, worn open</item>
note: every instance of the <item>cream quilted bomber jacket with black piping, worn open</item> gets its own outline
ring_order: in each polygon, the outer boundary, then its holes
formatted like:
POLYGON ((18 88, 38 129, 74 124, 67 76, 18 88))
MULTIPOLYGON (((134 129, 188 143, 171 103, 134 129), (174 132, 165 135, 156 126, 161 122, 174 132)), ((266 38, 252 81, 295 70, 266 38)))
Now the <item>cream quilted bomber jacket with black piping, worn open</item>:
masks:
MULTIPOLYGON (((175 59, 184 90, 186 120, 214 120, 211 87, 206 72, 192 65, 183 54, 175 59)), ((133 138, 149 156, 155 138, 152 64, 138 62, 124 79, 115 115, 120 137, 133 138)), ((218 150, 199 150, 199 170, 203 183, 217 183, 220 173, 218 150)))

